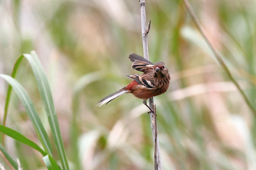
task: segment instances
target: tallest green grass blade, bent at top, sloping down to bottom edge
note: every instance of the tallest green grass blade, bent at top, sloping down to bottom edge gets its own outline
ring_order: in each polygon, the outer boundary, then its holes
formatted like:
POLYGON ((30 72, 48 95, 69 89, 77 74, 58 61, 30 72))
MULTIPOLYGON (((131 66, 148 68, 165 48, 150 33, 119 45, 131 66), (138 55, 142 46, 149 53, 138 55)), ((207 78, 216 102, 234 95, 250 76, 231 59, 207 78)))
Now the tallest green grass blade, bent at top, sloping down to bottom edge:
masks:
POLYGON ((31 51, 31 55, 24 54, 24 57, 28 59, 28 62, 30 63, 36 77, 36 83, 44 104, 44 109, 47 113, 47 118, 52 130, 52 136, 56 144, 57 151, 60 156, 62 168, 64 170, 68 170, 68 162, 65 155, 64 144, 61 138, 60 126, 57 119, 48 78, 35 51, 31 51))

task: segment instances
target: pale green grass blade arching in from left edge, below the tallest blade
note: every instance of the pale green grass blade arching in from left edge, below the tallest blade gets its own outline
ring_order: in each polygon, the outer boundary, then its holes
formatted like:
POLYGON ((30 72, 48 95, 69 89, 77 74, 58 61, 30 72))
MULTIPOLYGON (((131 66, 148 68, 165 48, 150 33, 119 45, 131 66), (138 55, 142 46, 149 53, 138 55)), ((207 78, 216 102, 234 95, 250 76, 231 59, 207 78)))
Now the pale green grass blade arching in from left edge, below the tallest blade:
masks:
POLYGON ((14 89, 18 97, 20 98, 22 104, 24 105, 28 116, 36 130, 36 133, 44 147, 46 153, 52 154, 52 145, 50 143, 49 137, 44 129, 42 122, 39 119, 38 113, 34 104, 28 96, 28 93, 25 89, 20 85, 20 83, 12 78, 11 76, 0 74, 0 77, 4 78, 14 89))

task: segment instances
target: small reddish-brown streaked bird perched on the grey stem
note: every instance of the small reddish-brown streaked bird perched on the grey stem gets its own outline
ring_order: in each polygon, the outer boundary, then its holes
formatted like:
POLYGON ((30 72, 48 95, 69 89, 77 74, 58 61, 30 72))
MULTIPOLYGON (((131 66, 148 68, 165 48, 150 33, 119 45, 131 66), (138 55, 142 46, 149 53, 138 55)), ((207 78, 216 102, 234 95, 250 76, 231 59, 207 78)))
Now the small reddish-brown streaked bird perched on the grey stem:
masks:
MULTIPOLYGON (((141 71, 143 74, 127 75, 134 80, 119 91, 101 99, 96 106, 108 104, 124 93, 132 93, 135 97, 142 99, 143 104, 148 107, 147 99, 167 91, 171 76, 163 62, 153 64, 137 54, 130 54, 129 59, 133 62, 132 69, 141 71)), ((154 113, 150 107, 148 108, 154 113)))

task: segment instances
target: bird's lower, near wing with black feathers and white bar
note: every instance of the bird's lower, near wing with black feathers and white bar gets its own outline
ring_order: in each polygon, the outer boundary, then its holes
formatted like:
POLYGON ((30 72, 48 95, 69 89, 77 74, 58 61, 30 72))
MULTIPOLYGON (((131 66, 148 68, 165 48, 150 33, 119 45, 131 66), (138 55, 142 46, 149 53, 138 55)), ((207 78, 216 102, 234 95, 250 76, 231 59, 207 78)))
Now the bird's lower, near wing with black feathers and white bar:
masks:
POLYGON ((152 78, 150 78, 152 76, 149 76, 148 74, 142 74, 142 75, 134 74, 134 75, 126 75, 126 76, 134 79, 135 81, 137 81, 141 85, 145 85, 149 89, 156 88, 154 80, 152 78))

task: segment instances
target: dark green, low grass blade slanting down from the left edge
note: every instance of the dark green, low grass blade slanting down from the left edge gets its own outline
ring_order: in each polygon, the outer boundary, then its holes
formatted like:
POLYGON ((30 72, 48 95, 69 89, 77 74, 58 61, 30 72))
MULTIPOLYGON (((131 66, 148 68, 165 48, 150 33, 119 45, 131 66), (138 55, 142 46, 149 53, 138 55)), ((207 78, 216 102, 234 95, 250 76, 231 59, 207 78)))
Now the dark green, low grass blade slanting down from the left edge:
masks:
POLYGON ((27 137, 21 135, 19 132, 13 129, 7 128, 3 125, 0 125, 0 131, 3 132, 5 135, 8 135, 9 137, 12 137, 15 140, 28 145, 29 147, 37 150, 38 152, 41 152, 42 155, 44 156, 47 155, 35 142, 29 140, 27 137))

